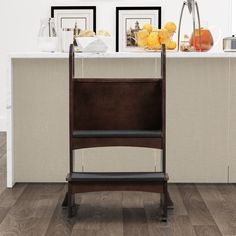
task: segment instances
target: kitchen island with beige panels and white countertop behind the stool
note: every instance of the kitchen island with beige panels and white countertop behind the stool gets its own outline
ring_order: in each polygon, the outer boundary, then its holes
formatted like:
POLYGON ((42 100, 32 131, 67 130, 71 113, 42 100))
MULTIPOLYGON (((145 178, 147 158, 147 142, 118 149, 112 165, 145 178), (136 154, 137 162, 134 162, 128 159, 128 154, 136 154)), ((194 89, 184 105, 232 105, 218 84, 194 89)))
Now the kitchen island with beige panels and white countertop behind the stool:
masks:
MULTIPOLYGON (((160 53, 76 54, 80 78, 155 78, 160 53)), ((12 53, 7 185, 64 182, 68 172, 68 54, 12 53)), ((122 98, 121 98, 122 99, 122 98)), ((170 182, 236 182, 236 53, 167 53, 170 182)), ((77 153, 78 171, 158 171, 153 149, 77 153)))

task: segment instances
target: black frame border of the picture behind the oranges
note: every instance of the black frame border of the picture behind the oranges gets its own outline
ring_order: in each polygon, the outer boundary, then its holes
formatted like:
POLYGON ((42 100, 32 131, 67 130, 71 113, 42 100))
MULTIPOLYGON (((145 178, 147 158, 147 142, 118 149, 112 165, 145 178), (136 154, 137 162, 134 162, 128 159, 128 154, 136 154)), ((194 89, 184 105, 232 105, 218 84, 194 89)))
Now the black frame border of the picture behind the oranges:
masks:
POLYGON ((148 6, 148 7, 116 7, 116 52, 119 52, 119 18, 120 11, 123 10, 157 10, 158 11, 158 28, 161 29, 162 26, 162 8, 161 6, 148 6))

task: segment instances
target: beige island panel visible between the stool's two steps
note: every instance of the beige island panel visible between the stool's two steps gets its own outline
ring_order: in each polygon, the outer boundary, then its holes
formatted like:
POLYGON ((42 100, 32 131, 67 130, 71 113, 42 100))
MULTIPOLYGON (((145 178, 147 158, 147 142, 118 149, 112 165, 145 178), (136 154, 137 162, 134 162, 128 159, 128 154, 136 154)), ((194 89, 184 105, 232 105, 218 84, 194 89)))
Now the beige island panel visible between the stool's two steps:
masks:
POLYGON ((156 171, 157 152, 148 148, 107 147, 85 149, 84 171, 153 172, 156 171))

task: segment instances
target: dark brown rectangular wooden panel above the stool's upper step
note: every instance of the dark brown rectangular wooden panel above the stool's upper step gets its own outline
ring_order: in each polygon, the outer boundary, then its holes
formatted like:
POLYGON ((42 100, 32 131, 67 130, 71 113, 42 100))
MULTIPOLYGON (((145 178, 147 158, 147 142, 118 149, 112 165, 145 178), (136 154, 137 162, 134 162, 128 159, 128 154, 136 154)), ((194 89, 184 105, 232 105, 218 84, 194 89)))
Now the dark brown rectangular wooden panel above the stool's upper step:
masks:
POLYGON ((162 80, 82 81, 74 82, 75 130, 161 129, 162 80))

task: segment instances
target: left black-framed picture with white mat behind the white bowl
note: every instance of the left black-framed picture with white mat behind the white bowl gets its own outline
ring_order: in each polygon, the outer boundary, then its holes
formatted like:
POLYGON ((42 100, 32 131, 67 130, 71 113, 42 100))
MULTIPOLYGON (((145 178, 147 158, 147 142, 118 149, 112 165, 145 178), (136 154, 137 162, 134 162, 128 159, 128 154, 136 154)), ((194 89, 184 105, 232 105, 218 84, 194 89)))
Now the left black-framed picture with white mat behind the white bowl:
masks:
POLYGON ((55 20, 58 34, 63 28, 74 28, 75 23, 81 30, 96 32, 95 6, 52 6, 51 17, 55 20))

